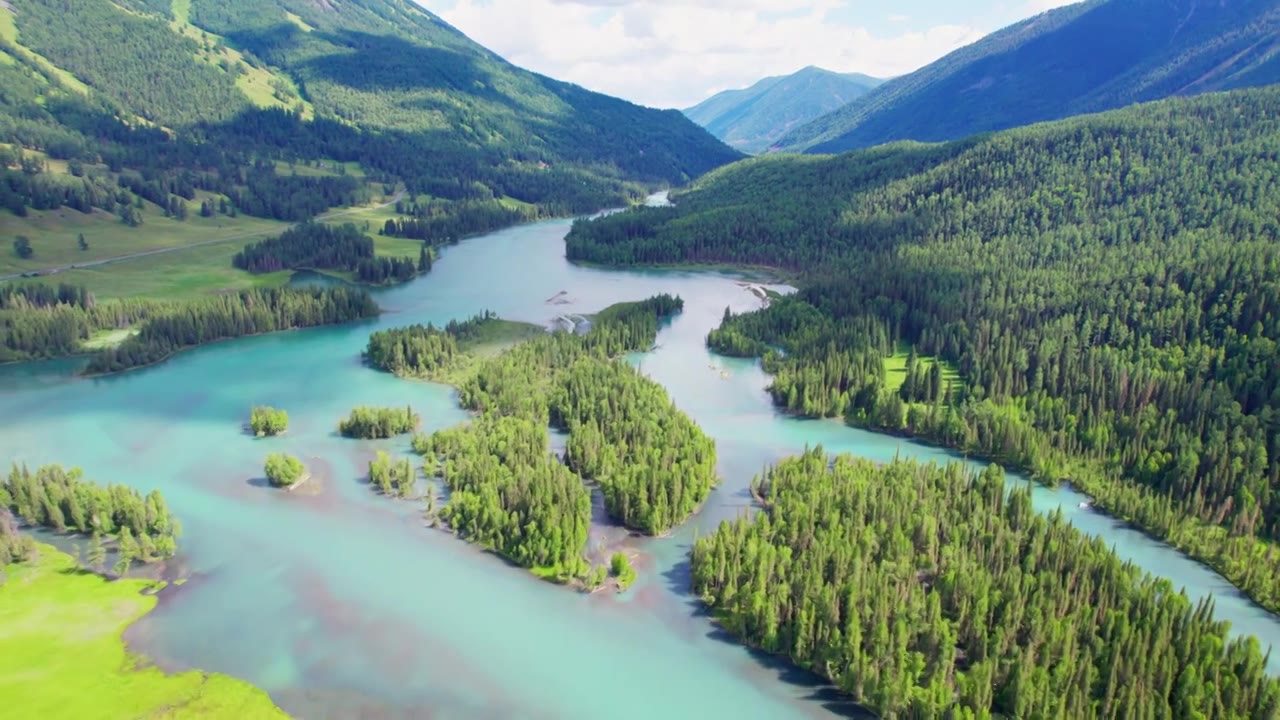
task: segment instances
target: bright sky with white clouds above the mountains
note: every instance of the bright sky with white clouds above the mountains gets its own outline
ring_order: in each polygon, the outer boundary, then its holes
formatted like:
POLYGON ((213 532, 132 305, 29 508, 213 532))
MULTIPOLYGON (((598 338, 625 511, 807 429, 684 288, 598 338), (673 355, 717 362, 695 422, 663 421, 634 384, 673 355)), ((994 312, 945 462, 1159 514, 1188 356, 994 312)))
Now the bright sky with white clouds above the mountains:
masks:
POLYGON ((1071 0, 417 0, 507 60, 654 108, 806 65, 893 77, 1071 0))

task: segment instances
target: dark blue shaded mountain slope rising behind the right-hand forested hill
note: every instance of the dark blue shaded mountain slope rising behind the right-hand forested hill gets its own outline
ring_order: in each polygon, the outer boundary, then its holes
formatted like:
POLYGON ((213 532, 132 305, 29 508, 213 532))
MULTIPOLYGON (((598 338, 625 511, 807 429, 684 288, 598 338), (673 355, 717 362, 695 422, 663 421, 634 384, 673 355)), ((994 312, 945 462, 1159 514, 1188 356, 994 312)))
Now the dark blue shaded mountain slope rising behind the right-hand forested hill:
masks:
POLYGON ((941 141, 1280 79, 1277 0, 1093 0, 992 33, 788 133, 783 150, 941 141))

